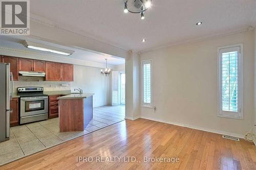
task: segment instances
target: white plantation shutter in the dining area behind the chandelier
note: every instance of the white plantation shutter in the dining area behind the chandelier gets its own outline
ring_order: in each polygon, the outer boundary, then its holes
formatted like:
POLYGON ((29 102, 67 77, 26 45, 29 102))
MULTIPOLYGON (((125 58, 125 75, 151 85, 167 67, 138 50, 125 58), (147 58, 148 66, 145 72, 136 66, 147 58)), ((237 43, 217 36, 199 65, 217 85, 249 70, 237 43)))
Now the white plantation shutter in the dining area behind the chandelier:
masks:
POLYGON ((119 105, 119 71, 112 71, 112 106, 119 105))

